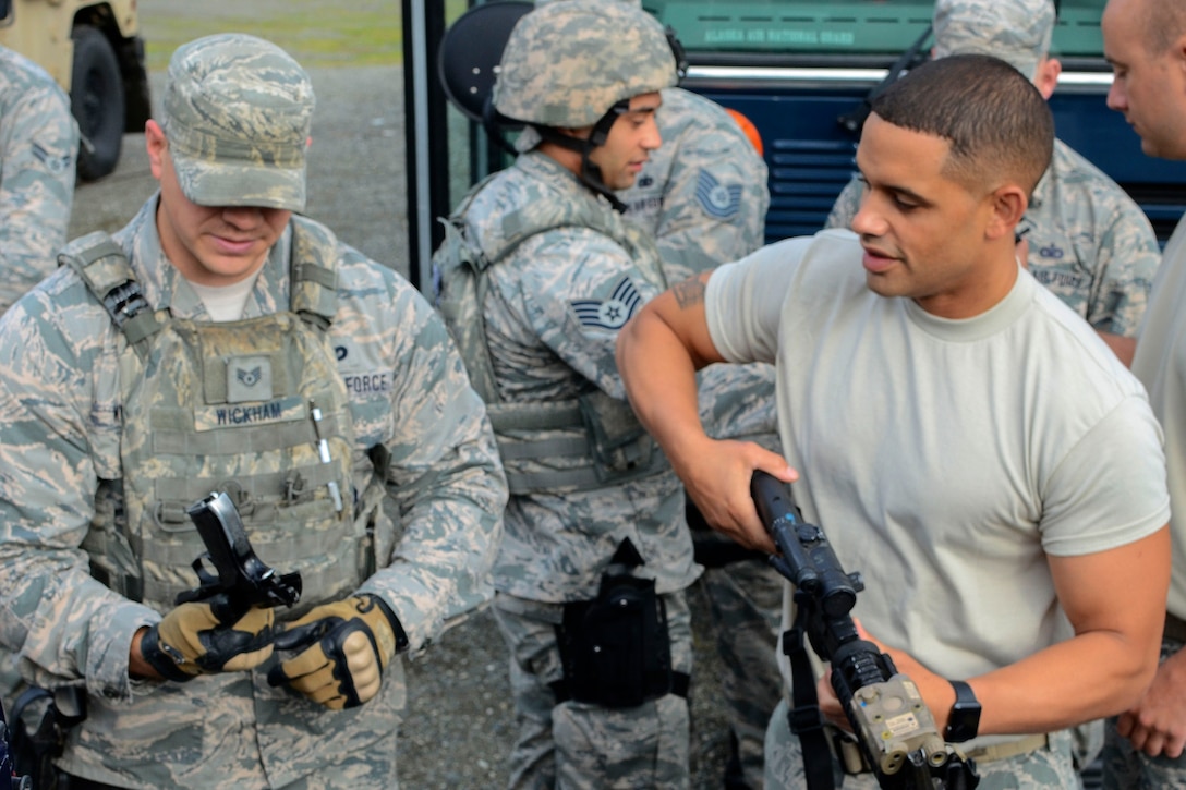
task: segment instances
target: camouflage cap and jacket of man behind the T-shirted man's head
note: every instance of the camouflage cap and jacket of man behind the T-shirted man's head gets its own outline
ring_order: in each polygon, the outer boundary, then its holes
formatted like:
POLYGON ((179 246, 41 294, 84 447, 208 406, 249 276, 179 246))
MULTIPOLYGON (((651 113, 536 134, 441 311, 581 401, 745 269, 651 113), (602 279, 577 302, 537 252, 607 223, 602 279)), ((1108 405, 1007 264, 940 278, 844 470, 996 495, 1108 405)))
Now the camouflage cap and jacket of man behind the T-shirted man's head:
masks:
MULTIPOLYGON (((993 55, 1034 79, 1054 30, 1051 0, 939 0, 935 57, 993 55)), ((848 228, 861 204, 853 178, 825 228, 848 228)), ((1140 206, 1095 165, 1060 140, 1018 224, 1029 244, 1028 268, 1099 332, 1135 337, 1161 261, 1140 206)))

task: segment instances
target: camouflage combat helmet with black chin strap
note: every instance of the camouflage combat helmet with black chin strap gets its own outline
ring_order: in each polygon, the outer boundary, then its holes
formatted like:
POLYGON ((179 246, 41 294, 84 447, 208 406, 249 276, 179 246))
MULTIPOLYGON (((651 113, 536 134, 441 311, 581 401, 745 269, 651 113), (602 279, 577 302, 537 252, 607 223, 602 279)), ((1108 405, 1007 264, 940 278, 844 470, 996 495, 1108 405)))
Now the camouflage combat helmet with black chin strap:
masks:
POLYGON ((629 2, 555 0, 515 25, 493 101, 517 121, 581 128, 675 83, 675 53, 655 17, 629 2))

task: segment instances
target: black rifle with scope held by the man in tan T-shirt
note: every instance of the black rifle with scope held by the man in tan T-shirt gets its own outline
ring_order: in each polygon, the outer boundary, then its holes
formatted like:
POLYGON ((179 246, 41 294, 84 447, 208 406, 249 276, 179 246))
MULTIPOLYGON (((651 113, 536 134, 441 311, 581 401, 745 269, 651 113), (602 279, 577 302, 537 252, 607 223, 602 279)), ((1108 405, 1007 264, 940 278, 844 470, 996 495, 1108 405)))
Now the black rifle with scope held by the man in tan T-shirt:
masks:
MULTIPOLYGON (((796 648, 805 660, 802 631, 806 631, 815 652, 831 663, 831 687, 878 784, 882 790, 973 790, 980 783, 975 763, 944 743, 914 683, 897 670, 890 656, 857 633, 849 612, 856 605, 856 593, 865 588, 861 575, 844 572, 823 530, 802 521, 790 489, 780 480, 755 471, 750 492, 780 553, 771 555, 770 563, 795 585, 798 614, 795 629, 783 635, 783 650, 792 664, 796 648)), ((808 706, 802 703, 799 686, 806 681, 814 681, 810 671, 806 680, 802 673, 796 674, 796 709, 791 716, 792 732, 804 741, 805 731, 820 730, 814 682, 808 683, 808 706)), ((814 751, 818 752, 821 744, 827 757, 827 778, 822 783, 830 786, 827 743, 817 741, 814 751)), ((809 744, 804 743, 803 759, 811 786, 814 758, 808 752, 809 744)))

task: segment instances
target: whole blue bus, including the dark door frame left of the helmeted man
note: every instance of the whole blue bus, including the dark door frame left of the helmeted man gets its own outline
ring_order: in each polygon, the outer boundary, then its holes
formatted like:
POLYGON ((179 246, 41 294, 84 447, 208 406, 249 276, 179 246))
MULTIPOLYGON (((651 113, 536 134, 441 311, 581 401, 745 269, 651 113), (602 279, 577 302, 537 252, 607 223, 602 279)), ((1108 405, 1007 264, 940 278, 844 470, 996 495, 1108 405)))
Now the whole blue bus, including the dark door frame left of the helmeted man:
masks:
MULTIPOLYGON (((1165 243, 1186 212, 1186 163, 1146 157, 1123 116, 1108 109, 1111 68, 1099 31, 1105 1, 1058 4, 1051 56, 1063 72, 1050 104, 1058 136, 1127 190, 1165 243)), ((446 95, 444 68, 436 65, 453 23, 479 5, 502 7, 484 8, 473 23, 482 27, 479 49, 489 50, 474 56, 492 65, 531 2, 403 0, 412 23, 404 26, 407 170, 417 285, 441 241, 435 217, 509 161, 473 108, 458 109, 465 96, 446 95)), ((908 69, 931 49, 933 0, 643 0, 643 7, 683 44, 689 70, 682 85, 737 110, 760 135, 770 168, 769 242, 823 227, 855 172, 854 114, 888 74, 908 69)), ((486 68, 470 90, 480 94, 492 82, 486 68)))

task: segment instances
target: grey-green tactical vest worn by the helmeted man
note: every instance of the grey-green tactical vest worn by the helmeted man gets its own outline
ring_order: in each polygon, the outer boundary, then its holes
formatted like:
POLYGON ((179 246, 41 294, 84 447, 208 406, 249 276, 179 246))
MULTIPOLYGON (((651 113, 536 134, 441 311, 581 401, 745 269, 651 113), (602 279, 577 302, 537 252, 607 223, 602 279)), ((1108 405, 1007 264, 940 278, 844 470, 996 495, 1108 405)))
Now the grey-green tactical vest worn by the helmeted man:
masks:
MULTIPOLYGON (((497 174, 496 174, 497 176, 497 174)), ((435 306, 465 361, 473 388, 486 402, 512 495, 563 493, 638 479, 667 469, 667 458, 638 422, 630 404, 589 387, 580 397, 549 403, 509 403, 498 393, 483 314, 490 267, 536 234, 588 228, 608 236, 635 263, 664 281, 658 253, 643 232, 613 222, 588 203, 535 204, 502 218, 508 231, 489 253, 468 238, 465 215, 495 178, 465 196, 446 219, 445 241, 433 255, 435 306)))

